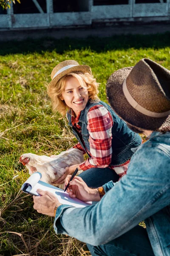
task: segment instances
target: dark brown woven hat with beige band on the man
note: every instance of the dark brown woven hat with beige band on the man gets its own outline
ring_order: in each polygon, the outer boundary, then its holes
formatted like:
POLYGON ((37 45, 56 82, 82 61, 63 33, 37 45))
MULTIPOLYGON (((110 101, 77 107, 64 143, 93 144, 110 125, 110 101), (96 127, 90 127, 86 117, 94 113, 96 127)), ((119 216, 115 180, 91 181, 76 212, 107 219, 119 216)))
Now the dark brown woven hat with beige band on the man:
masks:
POLYGON ((170 70, 143 58, 114 72, 106 92, 113 110, 130 125, 170 131, 170 70))

